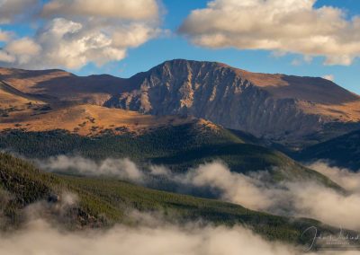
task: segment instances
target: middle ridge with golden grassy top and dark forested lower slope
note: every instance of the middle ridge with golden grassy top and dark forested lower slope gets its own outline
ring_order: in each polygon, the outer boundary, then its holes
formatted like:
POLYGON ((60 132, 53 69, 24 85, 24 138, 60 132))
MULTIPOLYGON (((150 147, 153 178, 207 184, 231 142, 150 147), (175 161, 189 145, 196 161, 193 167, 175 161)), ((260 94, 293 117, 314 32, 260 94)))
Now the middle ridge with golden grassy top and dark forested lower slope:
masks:
POLYGON ((11 107, 4 107, 0 116, 0 149, 27 158, 46 159, 59 154, 82 155, 98 161, 130 158, 143 167, 155 163, 173 171, 187 171, 221 160, 231 171, 266 170, 273 181, 319 180, 338 189, 318 172, 266 148, 262 140, 208 120, 58 101, 53 95, 20 92, 3 84, 11 107))

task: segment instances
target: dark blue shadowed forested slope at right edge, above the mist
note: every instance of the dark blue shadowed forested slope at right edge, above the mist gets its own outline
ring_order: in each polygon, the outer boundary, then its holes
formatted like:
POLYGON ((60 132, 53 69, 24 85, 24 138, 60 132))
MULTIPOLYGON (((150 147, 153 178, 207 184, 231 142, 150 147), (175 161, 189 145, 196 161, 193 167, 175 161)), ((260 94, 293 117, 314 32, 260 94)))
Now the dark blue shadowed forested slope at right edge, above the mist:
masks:
POLYGON ((326 160, 330 166, 360 171, 360 130, 307 147, 294 158, 307 163, 326 160))

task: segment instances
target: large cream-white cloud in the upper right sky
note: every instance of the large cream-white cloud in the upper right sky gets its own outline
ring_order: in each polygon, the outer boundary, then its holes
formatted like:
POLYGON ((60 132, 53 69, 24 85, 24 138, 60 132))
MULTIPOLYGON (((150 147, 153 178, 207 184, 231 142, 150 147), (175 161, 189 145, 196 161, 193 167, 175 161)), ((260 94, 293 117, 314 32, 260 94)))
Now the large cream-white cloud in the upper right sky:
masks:
POLYGON ((316 0, 213 0, 194 10, 180 32, 208 48, 265 49, 326 57, 350 65, 360 56, 360 17, 316 0))

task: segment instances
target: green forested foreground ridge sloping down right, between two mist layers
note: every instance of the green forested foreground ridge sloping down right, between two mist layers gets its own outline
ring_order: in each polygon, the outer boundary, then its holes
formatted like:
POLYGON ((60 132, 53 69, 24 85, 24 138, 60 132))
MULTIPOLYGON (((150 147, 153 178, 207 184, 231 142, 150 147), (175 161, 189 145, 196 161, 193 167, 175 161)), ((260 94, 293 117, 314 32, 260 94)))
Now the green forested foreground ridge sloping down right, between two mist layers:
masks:
POLYGON ((32 207, 31 211, 42 219, 70 229, 116 223, 134 226, 137 219, 129 212, 137 210, 163 212, 166 222, 244 224, 267 239, 298 244, 311 239, 302 235, 310 226, 318 227, 321 233, 337 232, 311 219, 269 215, 218 200, 146 189, 121 180, 42 172, 30 163, 1 153, 0 187, 2 229, 21 227, 32 207), (71 203, 69 196, 73 197, 71 203))

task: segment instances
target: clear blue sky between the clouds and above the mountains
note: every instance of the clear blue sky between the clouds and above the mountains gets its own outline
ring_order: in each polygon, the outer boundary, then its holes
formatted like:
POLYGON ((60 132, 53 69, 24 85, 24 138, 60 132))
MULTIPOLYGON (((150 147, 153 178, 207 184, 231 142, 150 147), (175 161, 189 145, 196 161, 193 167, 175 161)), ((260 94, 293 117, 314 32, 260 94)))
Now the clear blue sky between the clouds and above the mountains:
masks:
MULTIPOLYGON (((80 69, 70 69, 76 75, 111 74, 129 77, 146 71, 166 60, 186 58, 226 63, 230 66, 252 72, 282 73, 287 75, 324 76, 333 75, 335 82, 352 92, 360 94, 360 60, 356 59, 350 66, 324 66, 324 57, 314 57, 310 63, 292 65, 293 60, 302 58, 298 54, 286 54, 275 57, 268 50, 244 50, 238 48, 210 49, 193 45, 189 40, 177 35, 175 31, 194 9, 206 7, 206 0, 163 0, 165 14, 161 28, 172 31, 170 36, 160 36, 148 40, 136 48, 130 48, 121 61, 112 61, 103 66, 87 64, 80 69)), ((360 14, 359 0, 318 0, 316 7, 323 5, 336 6, 346 10, 347 19, 360 14)), ((23 23, 4 24, 0 28, 15 31, 18 36, 31 36, 35 33, 31 25, 23 23)), ((360 31, 359 31, 360 32, 360 31)), ((67 68, 68 70, 68 68, 67 68)))

